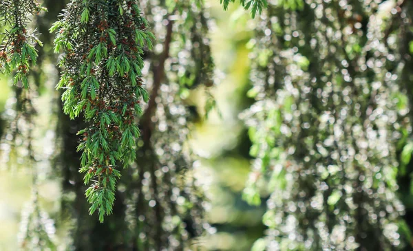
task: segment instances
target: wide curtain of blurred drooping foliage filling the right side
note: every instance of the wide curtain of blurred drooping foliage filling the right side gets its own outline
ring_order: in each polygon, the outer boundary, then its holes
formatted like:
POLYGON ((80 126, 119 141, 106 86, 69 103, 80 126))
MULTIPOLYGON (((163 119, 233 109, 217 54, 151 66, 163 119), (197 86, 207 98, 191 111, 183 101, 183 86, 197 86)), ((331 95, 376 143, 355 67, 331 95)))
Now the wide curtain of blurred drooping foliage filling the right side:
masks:
POLYGON ((396 147, 411 129, 399 36, 388 30, 406 17, 403 1, 295 2, 269 1, 251 41, 256 102, 242 117, 255 161, 244 197, 271 193, 255 248, 403 248, 396 147))

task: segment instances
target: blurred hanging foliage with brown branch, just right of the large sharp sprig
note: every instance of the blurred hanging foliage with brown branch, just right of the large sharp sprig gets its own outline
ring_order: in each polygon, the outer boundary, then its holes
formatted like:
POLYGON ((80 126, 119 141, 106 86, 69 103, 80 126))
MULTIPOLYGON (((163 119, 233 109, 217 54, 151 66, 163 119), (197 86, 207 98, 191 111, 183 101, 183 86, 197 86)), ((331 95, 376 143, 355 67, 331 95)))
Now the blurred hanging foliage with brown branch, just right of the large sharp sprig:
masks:
POLYGON ((136 204, 131 213, 140 221, 135 230, 147 233, 140 238, 141 245, 153 242, 156 249, 179 250, 187 239, 209 227, 204 223, 207 201, 195 177, 199 163, 194 162, 187 142, 196 114, 191 114, 184 99, 191 89, 207 91, 213 85, 211 23, 202 1, 164 6, 151 0, 141 5, 158 39, 153 55, 145 60, 151 97, 140 119, 137 156, 147 161, 136 161, 134 166, 139 178, 129 198, 136 204))

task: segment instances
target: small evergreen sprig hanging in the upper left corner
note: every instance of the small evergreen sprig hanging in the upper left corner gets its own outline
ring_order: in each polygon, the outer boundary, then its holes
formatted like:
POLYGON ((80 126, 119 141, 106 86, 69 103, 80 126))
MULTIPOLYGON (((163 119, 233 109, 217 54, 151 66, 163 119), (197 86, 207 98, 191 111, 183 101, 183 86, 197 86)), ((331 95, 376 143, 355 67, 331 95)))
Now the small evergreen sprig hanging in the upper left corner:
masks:
POLYGON ((28 30, 30 16, 45 10, 36 0, 3 0, 0 3, 0 25, 6 27, 0 47, 0 72, 16 70, 14 84, 28 87, 30 63, 36 65, 36 44, 42 45, 34 31, 28 30))

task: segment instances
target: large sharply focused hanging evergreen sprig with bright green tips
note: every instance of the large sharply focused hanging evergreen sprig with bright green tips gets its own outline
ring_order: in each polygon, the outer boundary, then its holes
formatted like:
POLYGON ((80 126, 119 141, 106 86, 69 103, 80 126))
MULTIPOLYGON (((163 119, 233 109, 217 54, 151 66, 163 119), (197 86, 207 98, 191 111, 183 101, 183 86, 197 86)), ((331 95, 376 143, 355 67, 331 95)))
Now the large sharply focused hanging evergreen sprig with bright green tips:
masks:
POLYGON ((65 52, 57 85, 65 89, 63 110, 72 119, 83 113, 89 123, 78 132, 80 172, 85 184, 93 182, 86 190, 89 211, 98 210, 103 221, 112 212, 118 164, 136 158, 135 116, 142 113, 140 98, 149 99, 140 78, 142 47, 150 50, 154 37, 131 0, 73 0, 51 31, 58 31, 55 52, 65 52))

